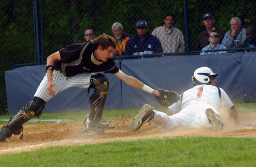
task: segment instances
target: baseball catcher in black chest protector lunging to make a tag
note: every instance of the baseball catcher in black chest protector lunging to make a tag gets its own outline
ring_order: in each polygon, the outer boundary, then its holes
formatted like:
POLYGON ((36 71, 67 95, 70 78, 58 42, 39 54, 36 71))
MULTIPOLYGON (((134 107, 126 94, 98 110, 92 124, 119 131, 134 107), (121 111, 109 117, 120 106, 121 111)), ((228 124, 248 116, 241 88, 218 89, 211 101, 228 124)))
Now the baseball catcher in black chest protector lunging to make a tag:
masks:
MULTIPOLYGON (((106 72, 115 75, 129 86, 141 89, 154 96, 159 91, 150 88, 138 79, 124 74, 116 65, 113 52, 116 48, 115 39, 102 34, 90 41, 78 41, 56 51, 47 57, 47 74, 41 81, 34 97, 11 118, 0 131, 0 142, 10 138, 13 134, 21 134, 23 124, 32 118, 39 117, 46 103, 68 88, 94 89, 90 97, 91 112, 83 121, 83 133, 104 133, 106 128, 114 128, 102 119, 102 113, 109 90, 106 72)), ((81 97, 82 98, 82 97, 81 97)))

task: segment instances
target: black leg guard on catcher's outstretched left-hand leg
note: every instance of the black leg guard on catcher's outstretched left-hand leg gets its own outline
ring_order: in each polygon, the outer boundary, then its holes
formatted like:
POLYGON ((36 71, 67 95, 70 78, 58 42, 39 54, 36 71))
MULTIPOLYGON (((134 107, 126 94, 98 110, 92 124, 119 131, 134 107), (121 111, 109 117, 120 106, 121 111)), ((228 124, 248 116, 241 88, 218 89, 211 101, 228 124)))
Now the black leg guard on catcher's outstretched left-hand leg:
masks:
MULTIPOLYGON (((19 135, 23 131, 23 124, 33 117, 39 117, 45 107, 46 102, 38 97, 33 97, 31 101, 10 118, 7 125, 0 131, 0 141, 10 138, 12 134, 19 135)), ((22 138, 22 136, 21 136, 22 138)))

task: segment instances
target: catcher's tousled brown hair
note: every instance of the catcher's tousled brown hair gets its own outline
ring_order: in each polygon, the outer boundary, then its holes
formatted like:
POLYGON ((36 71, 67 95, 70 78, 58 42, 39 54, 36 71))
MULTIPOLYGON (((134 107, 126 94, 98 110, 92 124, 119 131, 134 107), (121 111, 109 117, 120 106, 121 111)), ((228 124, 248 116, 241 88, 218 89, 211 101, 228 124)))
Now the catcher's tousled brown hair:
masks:
POLYGON ((102 46, 102 50, 107 49, 109 46, 116 48, 116 41, 114 37, 105 33, 94 38, 93 43, 95 45, 95 49, 97 49, 99 46, 102 46))

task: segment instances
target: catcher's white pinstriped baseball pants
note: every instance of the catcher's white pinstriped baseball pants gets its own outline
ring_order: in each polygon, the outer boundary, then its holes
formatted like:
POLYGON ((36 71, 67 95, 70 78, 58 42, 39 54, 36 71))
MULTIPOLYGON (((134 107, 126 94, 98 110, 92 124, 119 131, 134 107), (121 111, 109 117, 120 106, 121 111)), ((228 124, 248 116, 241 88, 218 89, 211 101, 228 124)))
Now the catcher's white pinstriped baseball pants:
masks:
MULTIPOLYGON (((58 95, 63 90, 66 90, 68 88, 72 87, 78 87, 78 88, 88 88, 90 85, 90 77, 94 75, 94 73, 81 73, 75 76, 66 77, 62 72, 53 71, 53 82, 55 84, 55 96, 58 95)), ((47 73, 45 77, 43 77, 43 80, 41 81, 40 85, 38 86, 38 89, 35 92, 36 97, 39 97, 45 102, 48 102, 51 98, 54 96, 49 95, 47 92, 47 73)))

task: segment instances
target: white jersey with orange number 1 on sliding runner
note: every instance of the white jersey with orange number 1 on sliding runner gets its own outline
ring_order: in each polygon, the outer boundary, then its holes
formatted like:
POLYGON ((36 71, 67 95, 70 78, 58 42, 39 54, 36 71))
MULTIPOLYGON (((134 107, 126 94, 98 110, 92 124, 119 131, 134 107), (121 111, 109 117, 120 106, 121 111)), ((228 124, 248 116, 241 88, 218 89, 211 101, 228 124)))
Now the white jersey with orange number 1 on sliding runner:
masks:
POLYGON ((216 86, 212 85, 196 85, 193 88, 185 91, 182 95, 182 102, 179 101, 169 106, 169 109, 174 113, 179 112, 184 108, 199 109, 202 107, 210 107, 218 111, 221 106, 230 109, 233 103, 229 99, 227 93, 216 86))

